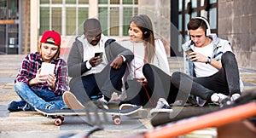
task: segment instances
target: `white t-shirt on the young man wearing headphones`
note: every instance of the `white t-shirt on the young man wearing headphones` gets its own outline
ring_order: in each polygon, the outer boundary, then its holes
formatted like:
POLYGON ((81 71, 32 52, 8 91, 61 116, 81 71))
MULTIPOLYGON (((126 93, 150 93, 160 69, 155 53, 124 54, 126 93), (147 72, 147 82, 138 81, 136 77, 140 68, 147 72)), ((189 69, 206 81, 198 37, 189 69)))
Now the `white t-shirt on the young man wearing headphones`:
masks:
MULTIPOLYGON (((195 47, 194 50, 195 52, 201 53, 202 55, 212 57, 213 44, 210 43, 209 45, 202 48, 195 47)), ((197 78, 208 77, 218 72, 218 69, 211 66, 210 64, 194 62, 194 65, 195 65, 195 75, 197 78)))

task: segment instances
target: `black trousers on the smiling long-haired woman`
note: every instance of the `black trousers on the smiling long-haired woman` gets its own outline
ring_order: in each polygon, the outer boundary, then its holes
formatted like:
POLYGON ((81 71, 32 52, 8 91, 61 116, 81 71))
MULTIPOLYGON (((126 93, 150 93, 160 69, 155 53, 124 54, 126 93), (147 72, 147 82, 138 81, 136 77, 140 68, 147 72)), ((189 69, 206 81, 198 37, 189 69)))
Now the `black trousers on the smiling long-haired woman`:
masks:
MULTIPOLYGON (((174 102, 177 96, 177 89, 172 86, 171 77, 160 70, 160 68, 145 64, 143 75, 148 80, 148 86, 143 87, 137 81, 128 82, 131 89, 126 90, 127 100, 125 102, 140 106, 156 106, 159 98, 174 102)), ((125 103, 122 102, 122 103, 125 103)))

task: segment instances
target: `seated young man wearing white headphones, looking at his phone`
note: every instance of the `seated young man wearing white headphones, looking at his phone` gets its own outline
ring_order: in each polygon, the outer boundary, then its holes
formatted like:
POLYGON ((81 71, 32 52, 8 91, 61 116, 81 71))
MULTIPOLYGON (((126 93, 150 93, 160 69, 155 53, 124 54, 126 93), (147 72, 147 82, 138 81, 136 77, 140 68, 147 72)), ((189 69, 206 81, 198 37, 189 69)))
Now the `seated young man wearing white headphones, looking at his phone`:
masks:
POLYGON ((200 106, 207 102, 222 105, 228 97, 235 101, 241 95, 242 83, 230 42, 212 34, 203 17, 189 20, 187 27, 191 40, 183 44, 183 50, 190 50, 190 76, 174 72, 172 84, 180 92, 194 95, 200 106))

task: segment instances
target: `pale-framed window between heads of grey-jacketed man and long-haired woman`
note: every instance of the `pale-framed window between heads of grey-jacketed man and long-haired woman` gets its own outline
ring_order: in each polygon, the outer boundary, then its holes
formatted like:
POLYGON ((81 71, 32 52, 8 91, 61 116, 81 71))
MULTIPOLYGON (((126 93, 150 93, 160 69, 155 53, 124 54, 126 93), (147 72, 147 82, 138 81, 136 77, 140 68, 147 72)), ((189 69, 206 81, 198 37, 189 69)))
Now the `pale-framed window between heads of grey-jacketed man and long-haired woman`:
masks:
POLYGON ((137 15, 137 0, 98 0, 102 33, 107 36, 128 36, 131 17, 137 15))

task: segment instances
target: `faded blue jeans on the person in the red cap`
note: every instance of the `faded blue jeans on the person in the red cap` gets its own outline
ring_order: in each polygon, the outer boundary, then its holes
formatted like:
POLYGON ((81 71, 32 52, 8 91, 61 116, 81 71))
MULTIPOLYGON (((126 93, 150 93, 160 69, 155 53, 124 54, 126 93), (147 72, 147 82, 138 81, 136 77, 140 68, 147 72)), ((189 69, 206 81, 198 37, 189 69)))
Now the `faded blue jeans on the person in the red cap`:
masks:
POLYGON ((15 91, 22 100, 26 101, 33 108, 47 110, 47 106, 50 105, 55 105, 59 109, 65 107, 62 96, 55 95, 49 89, 31 89, 26 83, 17 82, 15 83, 15 91))

